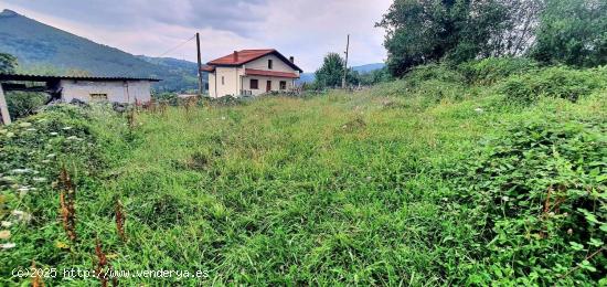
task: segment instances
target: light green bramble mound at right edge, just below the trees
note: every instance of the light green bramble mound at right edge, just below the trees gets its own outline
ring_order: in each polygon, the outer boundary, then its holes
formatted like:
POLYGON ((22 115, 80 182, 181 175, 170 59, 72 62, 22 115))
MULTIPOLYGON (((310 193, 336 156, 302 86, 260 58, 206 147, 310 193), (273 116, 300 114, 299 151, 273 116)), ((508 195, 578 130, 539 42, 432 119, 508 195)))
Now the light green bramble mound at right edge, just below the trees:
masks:
POLYGON ((543 96, 576 102, 604 87, 607 87, 607 67, 573 70, 554 66, 511 76, 499 92, 509 102, 528 104, 543 96))

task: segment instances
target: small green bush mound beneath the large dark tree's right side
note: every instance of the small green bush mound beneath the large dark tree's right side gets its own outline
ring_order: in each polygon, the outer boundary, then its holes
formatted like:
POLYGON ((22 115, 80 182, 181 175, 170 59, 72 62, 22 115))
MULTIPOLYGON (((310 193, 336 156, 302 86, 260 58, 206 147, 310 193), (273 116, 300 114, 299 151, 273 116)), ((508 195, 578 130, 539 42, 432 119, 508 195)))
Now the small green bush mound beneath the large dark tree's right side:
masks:
POLYGON ((537 67, 537 63, 525 57, 489 57, 462 63, 458 70, 470 84, 491 85, 511 75, 522 74, 537 67))

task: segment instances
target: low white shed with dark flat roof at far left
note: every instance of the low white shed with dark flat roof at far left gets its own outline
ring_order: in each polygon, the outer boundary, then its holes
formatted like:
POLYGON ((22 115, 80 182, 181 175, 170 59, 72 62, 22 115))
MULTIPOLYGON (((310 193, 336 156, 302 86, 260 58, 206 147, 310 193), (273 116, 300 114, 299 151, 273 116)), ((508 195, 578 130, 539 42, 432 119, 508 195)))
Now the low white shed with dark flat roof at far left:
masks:
POLYGON ((4 92, 42 92, 52 99, 70 103, 82 102, 147 103, 151 99, 151 83, 156 78, 93 77, 93 76, 43 76, 0 74, 0 113, 2 121, 10 123, 4 92))

